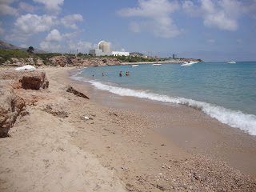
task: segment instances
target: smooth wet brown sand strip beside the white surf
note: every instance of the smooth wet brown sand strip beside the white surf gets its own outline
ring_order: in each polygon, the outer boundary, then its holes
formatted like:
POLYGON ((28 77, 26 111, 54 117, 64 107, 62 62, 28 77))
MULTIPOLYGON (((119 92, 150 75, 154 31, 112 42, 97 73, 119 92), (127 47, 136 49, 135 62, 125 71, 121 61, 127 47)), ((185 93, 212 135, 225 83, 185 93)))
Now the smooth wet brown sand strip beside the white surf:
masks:
POLYGON ((104 106, 127 110, 135 108, 139 114, 147 114, 151 118, 149 121, 154 122, 151 129, 170 139, 182 150, 225 161, 245 174, 256 176, 255 136, 218 122, 190 106, 119 96, 97 90, 89 83, 86 83, 86 89, 96 102, 104 106))

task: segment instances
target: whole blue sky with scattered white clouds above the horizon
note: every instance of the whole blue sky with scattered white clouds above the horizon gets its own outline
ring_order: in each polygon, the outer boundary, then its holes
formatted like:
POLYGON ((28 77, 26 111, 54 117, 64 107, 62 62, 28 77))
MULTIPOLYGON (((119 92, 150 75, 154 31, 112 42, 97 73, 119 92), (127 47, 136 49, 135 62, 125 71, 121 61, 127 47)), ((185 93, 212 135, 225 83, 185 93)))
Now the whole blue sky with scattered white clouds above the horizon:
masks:
POLYGON ((0 0, 0 39, 54 53, 110 50, 256 61, 256 0, 0 0))

